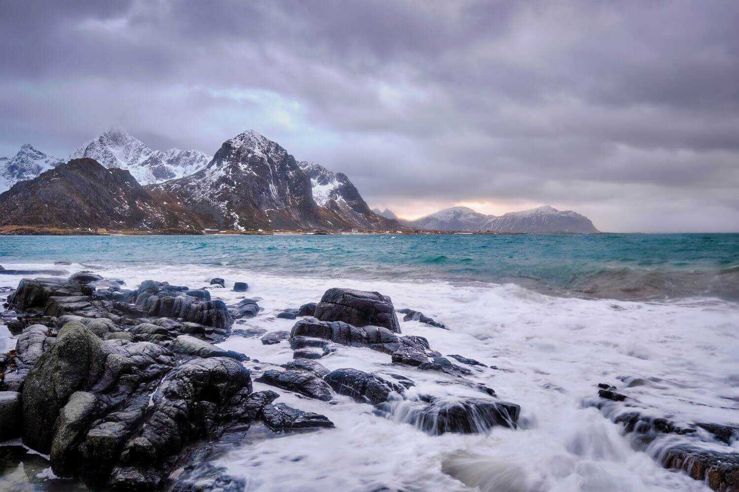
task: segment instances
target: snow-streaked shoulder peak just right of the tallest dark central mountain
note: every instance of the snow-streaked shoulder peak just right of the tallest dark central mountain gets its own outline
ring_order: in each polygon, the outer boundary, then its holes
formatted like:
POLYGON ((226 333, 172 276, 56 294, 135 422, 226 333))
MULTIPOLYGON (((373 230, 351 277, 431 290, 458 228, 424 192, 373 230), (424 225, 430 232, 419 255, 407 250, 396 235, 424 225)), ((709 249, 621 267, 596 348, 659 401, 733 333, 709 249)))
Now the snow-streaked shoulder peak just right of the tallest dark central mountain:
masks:
POLYGON ((398 229, 396 221, 369 209, 344 173, 332 173, 316 162, 302 161, 298 166, 310 178, 313 201, 330 224, 341 224, 341 228, 398 229))

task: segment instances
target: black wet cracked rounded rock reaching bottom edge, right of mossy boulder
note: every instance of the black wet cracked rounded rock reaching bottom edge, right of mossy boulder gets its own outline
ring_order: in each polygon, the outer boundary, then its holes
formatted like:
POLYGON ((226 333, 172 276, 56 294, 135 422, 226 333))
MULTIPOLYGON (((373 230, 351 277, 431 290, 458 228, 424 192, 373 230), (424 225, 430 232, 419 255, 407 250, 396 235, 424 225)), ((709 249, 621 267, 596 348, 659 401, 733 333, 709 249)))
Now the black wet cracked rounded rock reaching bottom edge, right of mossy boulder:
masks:
POLYGON ((112 488, 160 487, 169 474, 168 457, 237 417, 251 389, 249 371, 230 358, 195 359, 172 370, 154 393, 151 412, 123 446, 112 488))

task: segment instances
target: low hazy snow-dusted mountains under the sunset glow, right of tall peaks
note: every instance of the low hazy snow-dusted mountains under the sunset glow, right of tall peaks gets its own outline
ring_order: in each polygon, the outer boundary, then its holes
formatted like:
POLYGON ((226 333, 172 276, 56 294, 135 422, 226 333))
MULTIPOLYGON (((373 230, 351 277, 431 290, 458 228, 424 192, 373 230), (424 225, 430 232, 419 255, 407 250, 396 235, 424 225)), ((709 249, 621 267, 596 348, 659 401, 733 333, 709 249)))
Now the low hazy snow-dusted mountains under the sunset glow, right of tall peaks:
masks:
MULTIPOLYGON (((375 209, 378 213, 378 209, 375 209)), ((381 212, 389 216, 395 214, 389 209, 381 212)), ((398 219, 403 226, 412 229, 426 229, 432 231, 463 231, 463 232, 505 232, 548 234, 556 232, 599 232, 593 223, 579 213, 571 210, 560 211, 545 205, 520 212, 508 212, 500 217, 475 212, 469 207, 451 207, 439 210, 415 221, 398 219)))

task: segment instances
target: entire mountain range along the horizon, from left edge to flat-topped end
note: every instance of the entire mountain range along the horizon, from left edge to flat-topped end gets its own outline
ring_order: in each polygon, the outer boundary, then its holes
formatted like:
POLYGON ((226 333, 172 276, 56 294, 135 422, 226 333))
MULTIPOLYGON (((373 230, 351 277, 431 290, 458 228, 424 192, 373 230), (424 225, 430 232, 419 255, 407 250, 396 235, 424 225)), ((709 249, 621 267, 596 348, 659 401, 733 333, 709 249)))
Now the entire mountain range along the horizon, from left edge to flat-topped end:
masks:
POLYGON ((211 157, 152 150, 115 125, 70 159, 65 164, 29 144, 0 158, 0 226, 598 232, 587 217, 549 206, 500 217, 452 207, 404 221, 389 209, 369 209, 345 174, 297 162, 256 131, 226 140, 211 157))

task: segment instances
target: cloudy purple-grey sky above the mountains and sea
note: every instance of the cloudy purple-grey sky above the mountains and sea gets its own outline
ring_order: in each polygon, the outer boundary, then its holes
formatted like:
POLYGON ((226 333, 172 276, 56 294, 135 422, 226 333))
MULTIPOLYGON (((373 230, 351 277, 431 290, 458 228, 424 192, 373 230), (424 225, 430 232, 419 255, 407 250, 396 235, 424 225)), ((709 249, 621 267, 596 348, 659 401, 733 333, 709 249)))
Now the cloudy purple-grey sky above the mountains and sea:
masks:
POLYGON ((739 232, 736 1, 0 0, 0 156, 253 129, 415 218, 739 232))

